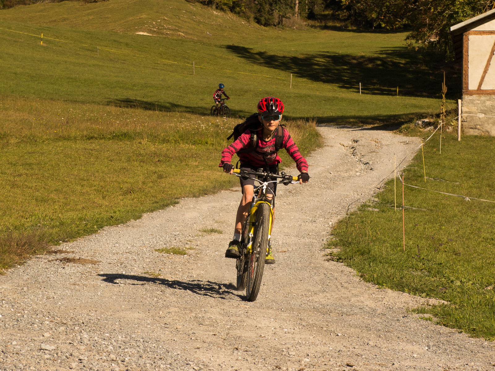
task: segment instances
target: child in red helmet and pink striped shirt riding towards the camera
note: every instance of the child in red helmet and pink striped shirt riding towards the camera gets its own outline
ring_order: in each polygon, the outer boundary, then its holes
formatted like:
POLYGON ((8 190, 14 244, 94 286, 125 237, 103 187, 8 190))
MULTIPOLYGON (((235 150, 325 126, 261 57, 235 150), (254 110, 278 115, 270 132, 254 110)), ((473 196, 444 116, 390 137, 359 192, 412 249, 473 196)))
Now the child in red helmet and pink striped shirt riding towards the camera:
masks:
MULTIPOLYGON (((230 162, 234 153, 237 153, 241 161, 241 169, 257 171, 259 168, 264 168, 270 173, 278 174, 278 164, 282 162, 278 156, 278 150, 285 148, 296 162, 297 170, 300 172, 299 183, 307 183, 309 175, 307 173, 308 164, 306 159, 300 154, 296 143, 291 138, 287 129, 279 125, 282 119, 282 113, 284 112, 282 101, 278 98, 268 96, 258 102, 257 109, 258 113, 249 116, 246 122, 241 124, 249 123, 251 127, 254 127, 254 130, 246 130, 232 144, 224 148, 219 167, 223 167, 224 172, 232 174, 234 166, 230 162)), ((270 179, 270 181, 274 180, 276 179, 270 179)), ((240 181, 243 196, 237 209, 234 238, 229 243, 229 247, 225 252, 226 258, 237 259, 240 256, 241 229, 247 218, 249 205, 254 193, 254 181, 252 179, 241 177, 240 181)), ((277 192, 277 184, 269 183, 268 186, 270 189, 267 192, 267 196, 273 199, 277 192)), ((274 200, 272 203, 274 210, 274 200)), ((271 244, 268 242, 265 264, 274 263, 275 259, 273 258, 271 244)))

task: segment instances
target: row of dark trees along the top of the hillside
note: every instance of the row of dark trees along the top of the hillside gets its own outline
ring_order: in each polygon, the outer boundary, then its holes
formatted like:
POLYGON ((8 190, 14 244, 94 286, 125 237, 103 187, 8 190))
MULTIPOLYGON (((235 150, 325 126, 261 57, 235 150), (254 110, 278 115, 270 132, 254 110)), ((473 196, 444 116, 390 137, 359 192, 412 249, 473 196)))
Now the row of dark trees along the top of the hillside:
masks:
POLYGON ((251 19, 263 26, 284 19, 318 19, 330 15, 350 26, 408 30, 410 47, 432 47, 452 57, 449 28, 491 10, 495 0, 188 0, 251 19))

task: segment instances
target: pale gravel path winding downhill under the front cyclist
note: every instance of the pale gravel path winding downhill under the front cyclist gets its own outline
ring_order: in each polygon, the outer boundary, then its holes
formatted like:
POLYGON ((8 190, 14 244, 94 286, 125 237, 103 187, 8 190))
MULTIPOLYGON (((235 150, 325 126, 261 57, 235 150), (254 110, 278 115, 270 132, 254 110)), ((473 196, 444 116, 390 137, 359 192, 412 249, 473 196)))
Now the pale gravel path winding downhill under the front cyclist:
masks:
POLYGON ((407 308, 425 299, 323 257, 332 224, 392 176, 394 153, 403 167, 418 140, 320 130, 310 182, 279 188, 277 263, 257 301, 234 290, 235 262, 223 257, 239 189, 183 199, 0 276, 0 370, 492 370, 491 343, 418 319, 407 308), (174 246, 190 249, 155 251, 174 246), (100 262, 53 260, 64 257, 100 262))

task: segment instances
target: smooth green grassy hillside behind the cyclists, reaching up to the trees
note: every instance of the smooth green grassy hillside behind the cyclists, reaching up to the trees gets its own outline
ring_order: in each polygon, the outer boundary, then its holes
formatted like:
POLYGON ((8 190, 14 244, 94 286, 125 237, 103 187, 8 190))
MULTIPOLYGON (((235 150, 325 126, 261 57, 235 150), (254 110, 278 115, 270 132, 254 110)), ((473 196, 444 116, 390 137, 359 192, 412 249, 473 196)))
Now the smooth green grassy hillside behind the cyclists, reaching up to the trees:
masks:
POLYGON ((0 87, 7 94, 204 114, 222 82, 240 116, 260 97, 276 95, 293 118, 335 123, 394 122, 439 106, 431 94, 440 76, 405 49, 403 33, 262 28, 183 0, 36 4, 1 10, 0 22, 73 42, 46 39, 40 46, 39 38, 0 30, 9 66, 0 87), (193 62, 208 68, 197 67, 193 76, 193 62), (382 93, 359 95, 359 82, 382 93))

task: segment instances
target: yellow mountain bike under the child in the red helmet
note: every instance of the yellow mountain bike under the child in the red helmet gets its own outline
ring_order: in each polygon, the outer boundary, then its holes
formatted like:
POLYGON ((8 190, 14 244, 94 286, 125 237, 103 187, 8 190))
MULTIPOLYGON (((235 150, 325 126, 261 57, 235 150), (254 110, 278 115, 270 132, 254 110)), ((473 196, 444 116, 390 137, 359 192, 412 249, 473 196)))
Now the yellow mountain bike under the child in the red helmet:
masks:
POLYGON ((254 301, 261 285, 273 225, 274 202, 266 195, 269 189, 268 184, 288 185, 297 183, 298 178, 286 175, 284 172, 280 175, 264 172, 263 169, 258 169, 257 172, 234 169, 234 173, 238 177, 249 178, 259 183, 254 187, 251 207, 241 232, 241 249, 239 250, 241 256, 236 260, 237 289, 239 291, 246 289, 247 301, 254 301), (277 180, 270 181, 270 178, 277 180))

